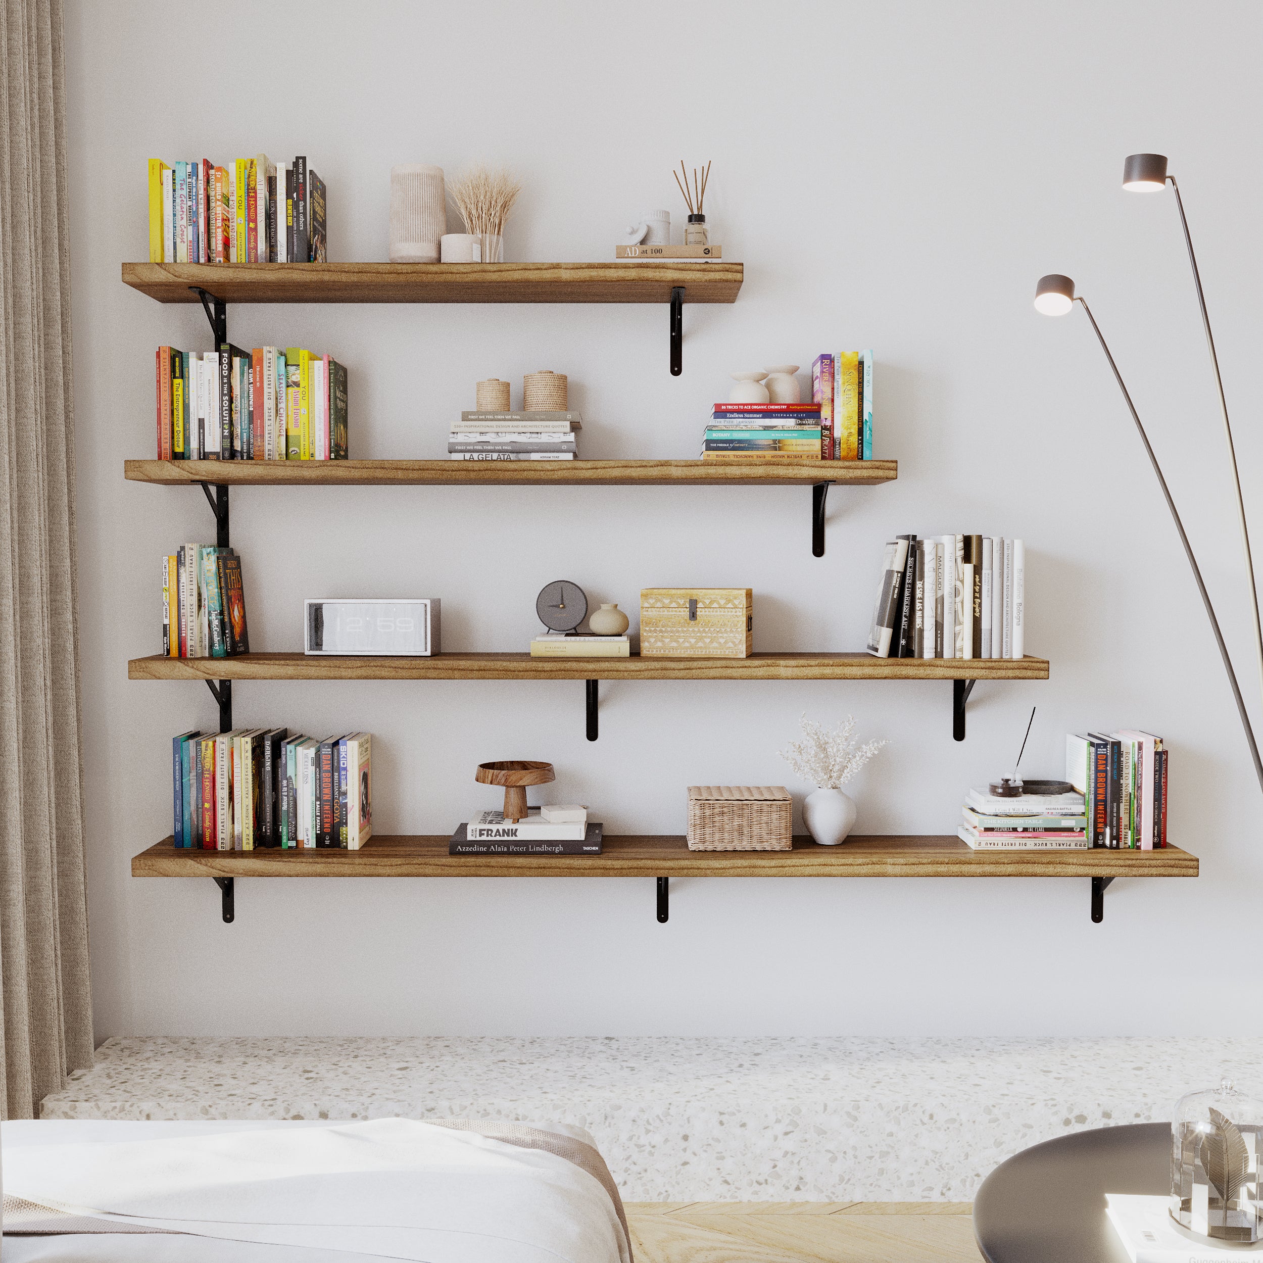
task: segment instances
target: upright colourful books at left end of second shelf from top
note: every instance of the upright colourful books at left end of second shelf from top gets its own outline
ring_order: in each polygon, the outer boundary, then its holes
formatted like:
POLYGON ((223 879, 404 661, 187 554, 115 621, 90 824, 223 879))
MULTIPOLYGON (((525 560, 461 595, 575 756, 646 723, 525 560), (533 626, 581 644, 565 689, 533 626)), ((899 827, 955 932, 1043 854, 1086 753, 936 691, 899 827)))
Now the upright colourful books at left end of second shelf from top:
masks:
POLYGON ((159 346, 158 458, 345 461, 346 369, 301 346, 159 346))

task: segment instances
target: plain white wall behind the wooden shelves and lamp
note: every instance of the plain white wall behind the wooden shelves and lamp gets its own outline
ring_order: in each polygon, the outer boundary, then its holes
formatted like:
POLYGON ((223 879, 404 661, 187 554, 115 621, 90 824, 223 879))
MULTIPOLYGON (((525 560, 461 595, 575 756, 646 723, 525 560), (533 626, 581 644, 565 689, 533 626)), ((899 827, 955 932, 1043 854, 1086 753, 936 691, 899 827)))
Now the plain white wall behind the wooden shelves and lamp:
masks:
MULTIPOLYGON (((1257 120, 1263 11, 1061 3, 67 5, 87 851, 97 1034, 1259 1032, 1259 789, 1196 589, 1075 277, 1111 340, 1258 710, 1240 548, 1176 207, 1119 188, 1156 149, 1181 179, 1247 490, 1263 455, 1257 120), (218 38, 210 40, 213 27, 218 38), (174 64, 179 54, 183 68, 174 64), (153 455, 153 352, 200 349, 197 307, 119 280, 147 250, 145 159, 306 153, 330 258, 385 259, 389 169, 510 164, 510 259, 608 259, 639 211, 682 222, 672 163, 712 159, 707 210, 745 264, 735 306, 234 307, 234 341, 328 350, 352 452, 437 457, 474 381, 570 374, 589 457, 686 457, 727 373, 873 346, 877 455, 835 490, 827 554, 801 489, 234 493, 255 649, 301 644, 309 595, 434 594, 448 649, 522 649, 548 580, 635 611, 642 586, 749 585, 757 649, 863 644, 895 532, 1022 536, 1027 645, 1048 682, 256 683, 241 724, 375 734, 380 832, 443 832, 494 792, 484 759, 549 759, 610 832, 679 832, 691 783, 796 783, 798 716, 893 745, 858 784, 865 832, 950 832, 970 784, 1058 774, 1067 730, 1173 750, 1171 836, 1196 880, 139 880, 168 831, 169 736, 200 685, 129 682, 158 647, 158 558, 211 539, 201 493, 123 479, 153 455)), ((453 225, 455 226, 455 225, 453 225)), ((1257 522, 1263 546, 1263 520, 1257 522)))

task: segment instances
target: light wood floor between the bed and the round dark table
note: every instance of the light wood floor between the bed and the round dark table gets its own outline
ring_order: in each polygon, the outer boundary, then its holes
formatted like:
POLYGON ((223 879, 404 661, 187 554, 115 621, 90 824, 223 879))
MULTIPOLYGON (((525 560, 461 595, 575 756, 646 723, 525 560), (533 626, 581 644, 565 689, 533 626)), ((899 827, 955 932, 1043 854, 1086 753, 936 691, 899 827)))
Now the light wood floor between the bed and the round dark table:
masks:
POLYGON ((637 1263, 979 1263, 967 1201, 629 1201, 637 1263))

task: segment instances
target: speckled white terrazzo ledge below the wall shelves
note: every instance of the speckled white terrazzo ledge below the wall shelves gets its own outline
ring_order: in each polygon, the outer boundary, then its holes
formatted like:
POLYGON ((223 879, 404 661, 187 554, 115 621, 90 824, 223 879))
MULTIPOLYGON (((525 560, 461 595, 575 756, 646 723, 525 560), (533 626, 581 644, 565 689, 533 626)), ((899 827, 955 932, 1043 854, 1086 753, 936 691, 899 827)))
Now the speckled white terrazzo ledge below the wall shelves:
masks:
POLYGON ((129 1037, 42 1116, 567 1122, 629 1201, 970 1201, 1224 1075, 1263 1082, 1263 1039, 129 1037))

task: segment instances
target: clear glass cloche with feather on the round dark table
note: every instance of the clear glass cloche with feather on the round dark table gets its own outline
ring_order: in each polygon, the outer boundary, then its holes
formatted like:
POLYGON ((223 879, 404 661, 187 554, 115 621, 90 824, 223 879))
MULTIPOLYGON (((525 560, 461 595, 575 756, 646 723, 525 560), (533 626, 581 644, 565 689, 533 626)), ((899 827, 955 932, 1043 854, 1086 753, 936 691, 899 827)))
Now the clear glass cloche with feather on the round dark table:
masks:
POLYGON ((1171 1218, 1219 1242, 1263 1239, 1263 1103, 1229 1080, 1188 1092, 1171 1120, 1171 1218))

